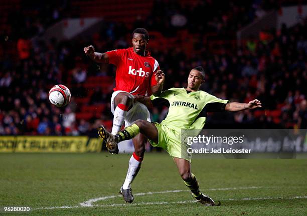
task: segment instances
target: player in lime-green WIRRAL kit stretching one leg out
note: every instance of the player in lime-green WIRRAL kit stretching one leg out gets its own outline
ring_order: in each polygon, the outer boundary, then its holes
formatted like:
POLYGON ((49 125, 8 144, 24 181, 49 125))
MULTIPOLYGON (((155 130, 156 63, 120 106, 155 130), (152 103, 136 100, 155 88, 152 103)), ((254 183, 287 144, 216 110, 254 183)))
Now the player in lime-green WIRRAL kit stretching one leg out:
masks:
POLYGON ((183 181, 191 189, 192 196, 197 201, 205 205, 220 205, 220 201, 216 203, 200 191, 196 176, 191 172, 189 146, 182 141, 182 137, 188 129, 200 131, 206 122, 207 112, 252 109, 261 107, 261 102, 254 99, 248 103, 239 103, 217 98, 199 90, 200 85, 205 82, 204 77, 203 67, 198 66, 190 71, 186 88, 170 88, 161 92, 160 95, 150 97, 135 96, 135 101, 145 105, 165 102, 169 106, 169 113, 161 123, 136 120, 115 136, 101 125, 98 127, 98 133, 111 149, 117 147, 117 143, 122 140, 131 139, 138 133, 144 134, 152 146, 162 147, 173 156, 183 181))

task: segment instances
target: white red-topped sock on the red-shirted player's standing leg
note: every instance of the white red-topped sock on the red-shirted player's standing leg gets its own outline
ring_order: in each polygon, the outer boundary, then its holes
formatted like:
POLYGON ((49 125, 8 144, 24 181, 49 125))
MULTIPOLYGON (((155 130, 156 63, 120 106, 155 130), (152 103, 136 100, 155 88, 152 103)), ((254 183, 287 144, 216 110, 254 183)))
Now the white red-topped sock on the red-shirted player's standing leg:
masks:
POLYGON ((143 157, 137 156, 135 152, 133 152, 132 156, 129 160, 129 168, 127 171, 126 179, 122 185, 123 189, 130 188, 130 184, 132 183, 133 179, 137 175, 137 172, 140 169, 143 157))

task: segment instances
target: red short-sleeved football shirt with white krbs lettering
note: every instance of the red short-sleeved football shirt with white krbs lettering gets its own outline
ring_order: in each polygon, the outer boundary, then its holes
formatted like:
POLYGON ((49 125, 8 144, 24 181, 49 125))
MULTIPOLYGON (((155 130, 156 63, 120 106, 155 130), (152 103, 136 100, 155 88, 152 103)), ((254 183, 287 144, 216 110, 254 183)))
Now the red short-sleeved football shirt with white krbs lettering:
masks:
POLYGON ((140 56, 133 48, 115 49, 106 52, 109 63, 116 65, 114 91, 123 90, 131 94, 150 95, 151 86, 157 81, 154 73, 160 69, 158 61, 146 50, 145 56, 140 56))

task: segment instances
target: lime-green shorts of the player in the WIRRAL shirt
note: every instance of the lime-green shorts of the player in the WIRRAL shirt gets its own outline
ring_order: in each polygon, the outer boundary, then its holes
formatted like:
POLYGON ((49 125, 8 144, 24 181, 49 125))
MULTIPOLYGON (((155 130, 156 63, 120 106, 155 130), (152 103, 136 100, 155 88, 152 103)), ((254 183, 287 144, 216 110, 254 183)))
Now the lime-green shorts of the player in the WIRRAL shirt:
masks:
POLYGON ((188 153, 188 145, 181 143, 181 129, 173 129, 166 124, 154 122, 158 129, 159 141, 158 143, 149 140, 150 144, 154 147, 162 147, 171 156, 183 158, 191 162, 192 154, 188 153))

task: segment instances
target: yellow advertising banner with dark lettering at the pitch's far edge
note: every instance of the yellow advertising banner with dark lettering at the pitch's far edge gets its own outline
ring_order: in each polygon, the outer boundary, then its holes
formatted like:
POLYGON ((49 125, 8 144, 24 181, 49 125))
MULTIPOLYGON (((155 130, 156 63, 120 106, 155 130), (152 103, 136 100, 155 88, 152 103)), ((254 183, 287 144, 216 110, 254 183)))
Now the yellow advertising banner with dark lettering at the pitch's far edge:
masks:
POLYGON ((87 136, 0 136, 0 152, 100 152, 101 145, 87 136))

